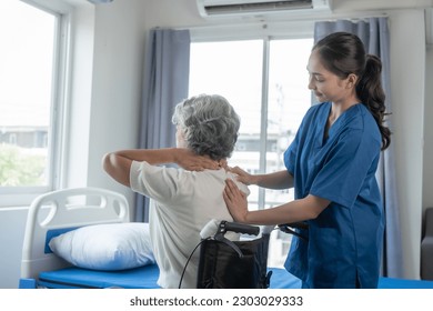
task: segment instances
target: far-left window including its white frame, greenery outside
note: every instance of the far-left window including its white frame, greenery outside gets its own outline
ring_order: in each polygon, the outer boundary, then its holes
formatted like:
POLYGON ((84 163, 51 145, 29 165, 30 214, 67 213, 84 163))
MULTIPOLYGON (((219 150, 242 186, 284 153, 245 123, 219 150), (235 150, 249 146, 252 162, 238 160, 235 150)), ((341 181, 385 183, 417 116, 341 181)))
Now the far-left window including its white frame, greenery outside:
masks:
POLYGON ((0 2, 1 205, 29 203, 21 194, 53 189, 58 178, 67 23, 39 2, 0 2))

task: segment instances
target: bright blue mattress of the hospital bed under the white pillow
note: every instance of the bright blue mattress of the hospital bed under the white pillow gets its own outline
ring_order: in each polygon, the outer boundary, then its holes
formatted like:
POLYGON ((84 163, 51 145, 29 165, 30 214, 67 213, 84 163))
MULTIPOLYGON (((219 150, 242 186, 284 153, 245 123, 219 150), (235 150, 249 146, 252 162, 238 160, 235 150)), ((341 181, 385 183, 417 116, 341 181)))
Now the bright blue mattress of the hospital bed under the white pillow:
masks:
MULTIPOLYGON (((284 269, 269 268, 272 271, 270 289, 300 289, 301 281, 284 269)), ((144 265, 123 271, 95 271, 80 268, 66 268, 41 272, 39 285, 51 289, 159 289, 159 268, 144 265)), ((381 278, 380 289, 433 289, 433 281, 381 278)))

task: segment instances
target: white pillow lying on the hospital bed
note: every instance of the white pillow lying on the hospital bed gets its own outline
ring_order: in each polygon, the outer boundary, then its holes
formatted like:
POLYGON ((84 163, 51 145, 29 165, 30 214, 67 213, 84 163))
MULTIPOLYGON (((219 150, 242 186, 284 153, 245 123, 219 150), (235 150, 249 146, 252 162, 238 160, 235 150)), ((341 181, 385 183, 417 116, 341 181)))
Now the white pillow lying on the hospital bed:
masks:
POLYGON ((92 270, 124 270, 155 262, 149 223, 142 222, 82 227, 52 238, 49 247, 73 265, 92 270))

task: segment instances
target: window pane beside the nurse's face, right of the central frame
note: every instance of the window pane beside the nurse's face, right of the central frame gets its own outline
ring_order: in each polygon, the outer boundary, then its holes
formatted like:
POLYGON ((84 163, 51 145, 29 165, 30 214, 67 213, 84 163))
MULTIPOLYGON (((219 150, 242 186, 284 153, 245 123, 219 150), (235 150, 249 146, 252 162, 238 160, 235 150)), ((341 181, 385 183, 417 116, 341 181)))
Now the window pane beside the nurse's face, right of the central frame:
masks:
MULTIPOLYGON (((266 172, 285 169, 283 153, 311 106, 306 63, 312 39, 272 40, 268 99, 266 172)), ((293 200, 290 191, 265 191, 265 208, 293 200)))

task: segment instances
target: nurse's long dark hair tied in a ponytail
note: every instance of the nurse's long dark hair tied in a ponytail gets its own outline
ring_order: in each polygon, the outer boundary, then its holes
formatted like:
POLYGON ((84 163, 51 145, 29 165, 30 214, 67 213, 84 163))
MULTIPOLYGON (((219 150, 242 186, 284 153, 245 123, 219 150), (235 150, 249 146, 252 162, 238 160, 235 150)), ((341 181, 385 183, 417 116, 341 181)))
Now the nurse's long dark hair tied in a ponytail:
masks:
POLYGON ((356 96, 371 111, 382 136, 382 150, 391 143, 391 131, 384 124, 389 114, 385 107, 385 93, 382 88, 382 61, 373 54, 366 54, 361 39, 348 32, 334 32, 314 44, 323 66, 342 79, 354 73, 358 76, 356 96))

